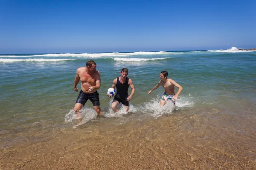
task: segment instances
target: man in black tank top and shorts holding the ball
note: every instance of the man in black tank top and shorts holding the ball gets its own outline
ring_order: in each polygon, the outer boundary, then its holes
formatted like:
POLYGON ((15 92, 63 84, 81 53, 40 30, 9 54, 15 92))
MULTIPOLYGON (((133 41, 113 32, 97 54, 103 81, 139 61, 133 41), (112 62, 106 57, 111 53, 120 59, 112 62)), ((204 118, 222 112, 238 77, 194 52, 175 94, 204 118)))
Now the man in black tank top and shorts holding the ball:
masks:
MULTIPOLYGON (((129 101, 131 100, 132 96, 134 95, 135 88, 134 85, 127 77, 128 75, 128 69, 123 68, 122 71, 120 72, 121 76, 117 77, 116 79, 113 80, 113 85, 112 88, 116 87, 116 96, 113 99, 111 108, 113 112, 118 112, 117 110, 117 105, 121 102, 123 105, 126 107, 126 111, 128 112, 129 110, 129 101), (131 94, 130 96, 128 95, 128 88, 129 86, 131 87, 131 94)), ((112 96, 109 96, 112 97, 112 96)))

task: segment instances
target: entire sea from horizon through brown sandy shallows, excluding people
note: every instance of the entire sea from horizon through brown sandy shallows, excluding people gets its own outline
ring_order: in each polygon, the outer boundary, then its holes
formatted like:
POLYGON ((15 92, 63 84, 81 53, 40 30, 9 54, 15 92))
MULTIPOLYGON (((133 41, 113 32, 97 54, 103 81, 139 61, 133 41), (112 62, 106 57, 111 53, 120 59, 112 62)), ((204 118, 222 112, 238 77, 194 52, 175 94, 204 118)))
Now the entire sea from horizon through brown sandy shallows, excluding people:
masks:
MULTIPOLYGON (((253 169, 255 65, 256 51, 235 47, 1 54, 0 167, 253 169), (81 111, 84 125, 73 129, 78 123, 73 110, 79 94, 73 88, 76 69, 89 59, 101 74, 102 116, 96 116, 87 101, 81 111), (122 68, 128 68, 136 91, 128 113, 122 105, 119 113, 113 113, 113 98, 106 91, 122 68), (168 71, 168 78, 183 87, 176 106, 172 102, 159 106, 163 87, 147 94, 161 71, 168 71), (84 161, 78 161, 80 157, 84 161)), ((77 87, 81 89, 80 82, 77 87)))

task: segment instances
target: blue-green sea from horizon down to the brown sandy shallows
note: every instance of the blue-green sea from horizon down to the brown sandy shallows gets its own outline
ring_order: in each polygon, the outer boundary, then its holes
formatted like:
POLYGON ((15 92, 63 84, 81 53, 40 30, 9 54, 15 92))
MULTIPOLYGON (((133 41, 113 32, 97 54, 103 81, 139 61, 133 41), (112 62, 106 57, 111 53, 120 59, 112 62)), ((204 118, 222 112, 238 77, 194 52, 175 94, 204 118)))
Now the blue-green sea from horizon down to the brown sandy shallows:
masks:
MULTIPOLYGON (((93 59, 101 74, 100 103, 105 117, 113 114, 106 91, 122 68, 128 68, 136 92, 131 112, 157 118, 173 112, 221 108, 239 114, 237 107, 256 110, 256 51, 158 51, 94 54, 6 54, 0 55, 0 129, 2 134, 77 123, 73 107, 78 93, 73 90, 76 69, 93 59), (160 72, 183 87, 175 108, 171 102, 159 107, 163 87, 147 92, 160 80, 160 72)), ((78 85, 80 88, 80 83, 78 85)), ((176 89, 177 91, 177 89, 176 89)), ((129 89, 129 93, 131 89, 129 89)), ((84 122, 95 119, 88 101, 84 122)), ((240 108, 241 110, 241 108, 240 108)))

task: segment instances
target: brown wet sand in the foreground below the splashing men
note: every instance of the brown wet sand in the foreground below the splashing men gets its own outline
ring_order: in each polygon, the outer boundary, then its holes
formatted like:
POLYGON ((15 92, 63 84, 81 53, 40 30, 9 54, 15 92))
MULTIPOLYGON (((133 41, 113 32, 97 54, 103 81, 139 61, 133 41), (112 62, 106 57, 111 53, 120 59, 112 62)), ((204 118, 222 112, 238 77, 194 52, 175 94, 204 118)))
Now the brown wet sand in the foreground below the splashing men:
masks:
POLYGON ((25 142, 2 147, 0 169, 253 170, 255 116, 247 118, 213 109, 122 125, 100 119, 76 130, 42 128, 19 133, 25 142))

